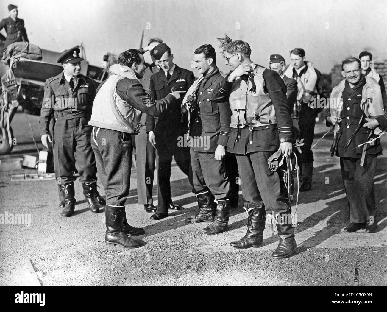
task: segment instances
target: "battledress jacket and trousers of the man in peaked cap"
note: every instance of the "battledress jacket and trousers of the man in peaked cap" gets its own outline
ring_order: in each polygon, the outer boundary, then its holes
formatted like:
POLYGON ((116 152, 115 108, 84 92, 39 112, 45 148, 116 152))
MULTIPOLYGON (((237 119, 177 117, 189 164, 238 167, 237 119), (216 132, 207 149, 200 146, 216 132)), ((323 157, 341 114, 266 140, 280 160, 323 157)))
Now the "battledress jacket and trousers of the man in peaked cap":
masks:
POLYGON ((92 127, 88 124, 96 90, 89 77, 78 75, 74 79, 74 88, 63 72, 46 80, 40 114, 41 135, 49 134, 50 120, 55 118, 54 166, 61 185, 74 182, 75 169, 82 183, 97 180, 90 142, 92 127))

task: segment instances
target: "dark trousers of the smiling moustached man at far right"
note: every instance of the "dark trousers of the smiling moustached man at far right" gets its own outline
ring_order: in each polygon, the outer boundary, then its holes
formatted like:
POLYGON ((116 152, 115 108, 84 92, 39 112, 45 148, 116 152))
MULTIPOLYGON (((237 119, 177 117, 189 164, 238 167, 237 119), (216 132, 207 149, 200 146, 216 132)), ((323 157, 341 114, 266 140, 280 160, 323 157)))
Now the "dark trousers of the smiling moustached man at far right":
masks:
POLYGON ((360 158, 340 157, 341 177, 347 194, 350 223, 366 223, 370 216, 375 217, 375 177, 377 157, 366 157, 364 166, 360 158))

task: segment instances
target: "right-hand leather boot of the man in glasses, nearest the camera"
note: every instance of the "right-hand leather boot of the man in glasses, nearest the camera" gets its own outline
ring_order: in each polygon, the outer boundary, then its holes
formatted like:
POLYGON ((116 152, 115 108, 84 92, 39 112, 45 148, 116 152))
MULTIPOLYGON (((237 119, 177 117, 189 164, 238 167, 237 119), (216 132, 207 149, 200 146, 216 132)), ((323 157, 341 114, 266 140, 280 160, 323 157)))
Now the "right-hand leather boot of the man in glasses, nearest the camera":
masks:
POLYGON ((283 213, 278 216, 277 230, 279 236, 279 244, 276 250, 272 253, 274 258, 287 257, 292 250, 297 248, 297 243, 294 238, 294 229, 291 222, 291 214, 283 213))

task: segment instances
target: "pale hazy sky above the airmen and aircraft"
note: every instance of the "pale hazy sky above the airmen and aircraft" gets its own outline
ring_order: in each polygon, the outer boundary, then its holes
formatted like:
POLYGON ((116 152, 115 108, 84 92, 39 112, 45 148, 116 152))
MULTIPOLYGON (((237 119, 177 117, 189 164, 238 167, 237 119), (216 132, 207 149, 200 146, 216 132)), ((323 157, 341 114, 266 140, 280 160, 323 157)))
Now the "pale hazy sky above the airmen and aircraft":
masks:
MULTIPOLYGON (((219 51, 216 37, 224 33, 247 41, 252 60, 265 67, 270 54, 288 61, 295 47, 325 73, 365 48, 387 58, 385 0, 0 0, 1 18, 9 3, 19 6, 31 43, 54 51, 83 43, 97 66, 106 52, 138 48, 143 30, 144 45, 162 38, 185 68, 198 46, 219 51)), ((217 64, 226 71, 220 52, 217 64)))

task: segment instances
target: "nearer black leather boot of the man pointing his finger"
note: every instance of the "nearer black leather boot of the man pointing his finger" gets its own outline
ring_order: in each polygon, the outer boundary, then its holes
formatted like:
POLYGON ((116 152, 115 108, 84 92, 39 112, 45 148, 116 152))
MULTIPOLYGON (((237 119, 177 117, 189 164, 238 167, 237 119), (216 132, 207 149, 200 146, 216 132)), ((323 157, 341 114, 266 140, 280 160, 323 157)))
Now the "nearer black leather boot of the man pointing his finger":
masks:
POLYGON ((124 248, 140 247, 141 243, 138 240, 128 237, 122 231, 124 213, 125 206, 105 206, 105 243, 108 245, 119 245, 124 248))

